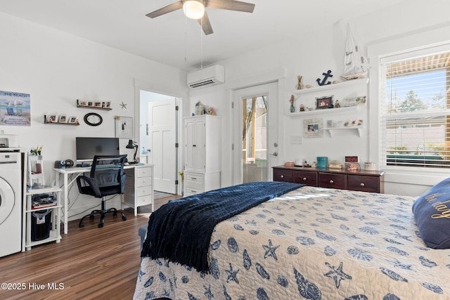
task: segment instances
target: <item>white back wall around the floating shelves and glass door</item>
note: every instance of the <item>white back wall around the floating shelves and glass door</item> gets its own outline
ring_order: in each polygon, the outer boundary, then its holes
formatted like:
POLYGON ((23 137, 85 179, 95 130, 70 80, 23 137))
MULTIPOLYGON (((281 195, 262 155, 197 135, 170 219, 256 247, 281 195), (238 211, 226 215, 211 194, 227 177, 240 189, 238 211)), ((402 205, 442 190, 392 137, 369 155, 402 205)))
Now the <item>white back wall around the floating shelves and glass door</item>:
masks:
MULTIPOLYGON (((195 103, 201 100, 205 105, 217 107, 218 115, 222 116, 222 136, 229 136, 233 124, 230 122, 231 108, 229 108, 230 97, 227 83, 236 82, 255 77, 258 74, 282 68, 286 71, 284 98, 285 112, 288 111, 288 100, 297 84, 297 75, 303 76, 304 84, 316 86, 316 79, 322 78, 322 72, 332 70, 337 79, 343 69, 343 53, 345 51, 345 26, 349 23, 352 32, 359 44, 373 46, 385 41, 395 41, 400 37, 405 39, 415 39, 418 32, 429 32, 436 28, 449 26, 448 11, 450 2, 445 0, 428 1, 424 6, 423 1, 408 1, 408 6, 404 4, 392 6, 382 11, 377 11, 369 15, 356 16, 342 20, 329 28, 322 28, 318 31, 299 32, 297 37, 278 44, 272 44, 258 51, 245 53, 241 56, 219 62, 225 66, 226 84, 214 86, 207 89, 194 90, 189 93, 190 105, 193 110, 195 103)), ((447 30, 446 32, 450 32, 447 30)), ((448 34, 442 34, 437 39, 449 39, 448 34)), ((371 71, 373 72, 373 70, 371 71)), ((376 74, 375 74, 376 75, 376 74)), ((376 86, 371 86, 376 89, 376 86)), ((357 91, 359 93, 359 91, 357 91)), ((372 95, 372 93, 370 94, 372 95)), ((329 96, 328 93, 323 96, 329 96)), ((321 139, 304 138, 301 145, 291 145, 291 135, 302 135, 303 121, 301 117, 292 118, 285 116, 285 112, 280 112, 279 126, 284 129, 284 141, 280 143, 281 160, 283 159, 306 159, 312 161, 316 156, 328 156, 330 159, 339 159, 343 162, 345 155, 359 155, 361 162, 370 161, 377 163, 376 155, 372 154, 372 148, 378 147, 376 140, 377 107, 371 103, 376 103, 377 97, 368 98, 368 109, 365 114, 365 124, 371 127, 364 131, 359 138, 356 135, 339 136, 330 138, 324 133, 321 139), (375 126, 375 127, 374 127, 375 126), (367 160, 366 160, 367 159, 367 160)), ((296 108, 300 103, 296 101, 296 108)), ((353 119, 353 115, 348 115, 348 119, 353 119)), ((323 117, 324 122, 328 117, 323 117)), ((231 141, 225 139, 222 157, 231 157, 231 141)), ((397 176, 385 176, 385 193, 399 195, 419 195, 427 190, 430 185, 437 183, 442 176, 425 175, 426 178, 417 184, 416 181, 397 182, 397 176)), ((231 171, 222 170, 222 185, 231 182, 231 171)))

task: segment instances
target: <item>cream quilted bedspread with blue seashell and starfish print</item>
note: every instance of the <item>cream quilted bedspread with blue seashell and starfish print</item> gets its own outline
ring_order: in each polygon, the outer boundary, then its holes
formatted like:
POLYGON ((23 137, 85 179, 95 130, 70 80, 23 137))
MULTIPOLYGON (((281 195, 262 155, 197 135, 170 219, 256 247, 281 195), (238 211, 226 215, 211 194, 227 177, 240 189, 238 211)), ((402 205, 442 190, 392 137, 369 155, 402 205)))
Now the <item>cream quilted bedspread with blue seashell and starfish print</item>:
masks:
POLYGON ((413 197, 303 187, 219 223, 210 272, 143 258, 134 299, 450 299, 413 197))

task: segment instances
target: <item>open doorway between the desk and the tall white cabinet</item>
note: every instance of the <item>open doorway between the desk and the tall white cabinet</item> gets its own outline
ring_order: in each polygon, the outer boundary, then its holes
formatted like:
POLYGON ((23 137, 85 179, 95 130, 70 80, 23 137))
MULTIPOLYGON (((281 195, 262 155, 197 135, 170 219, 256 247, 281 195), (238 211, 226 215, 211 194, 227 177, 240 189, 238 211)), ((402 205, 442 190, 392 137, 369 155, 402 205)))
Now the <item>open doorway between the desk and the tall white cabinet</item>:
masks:
POLYGON ((155 193, 177 193, 179 99, 141 90, 141 160, 153 164, 155 193))

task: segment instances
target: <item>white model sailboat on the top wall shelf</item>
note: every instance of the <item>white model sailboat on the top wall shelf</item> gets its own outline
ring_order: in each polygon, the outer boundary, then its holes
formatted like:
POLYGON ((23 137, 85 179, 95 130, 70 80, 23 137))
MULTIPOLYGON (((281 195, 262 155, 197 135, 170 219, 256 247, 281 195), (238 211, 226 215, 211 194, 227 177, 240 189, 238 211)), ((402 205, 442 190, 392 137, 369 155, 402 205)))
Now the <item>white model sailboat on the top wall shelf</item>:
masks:
POLYGON ((359 47, 352 35, 350 27, 347 25, 347 44, 345 45, 344 72, 341 77, 346 80, 367 77, 368 60, 362 48, 359 47))

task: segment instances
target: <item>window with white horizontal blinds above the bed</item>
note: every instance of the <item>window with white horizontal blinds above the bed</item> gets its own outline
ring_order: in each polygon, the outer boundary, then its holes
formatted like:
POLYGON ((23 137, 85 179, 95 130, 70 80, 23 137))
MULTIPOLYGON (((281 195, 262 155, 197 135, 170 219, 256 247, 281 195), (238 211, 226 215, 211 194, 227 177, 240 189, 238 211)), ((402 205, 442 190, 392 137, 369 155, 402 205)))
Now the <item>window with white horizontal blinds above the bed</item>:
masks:
POLYGON ((450 168, 450 45, 428 50, 380 60, 382 165, 450 168))

